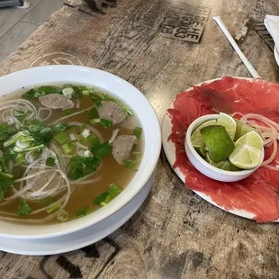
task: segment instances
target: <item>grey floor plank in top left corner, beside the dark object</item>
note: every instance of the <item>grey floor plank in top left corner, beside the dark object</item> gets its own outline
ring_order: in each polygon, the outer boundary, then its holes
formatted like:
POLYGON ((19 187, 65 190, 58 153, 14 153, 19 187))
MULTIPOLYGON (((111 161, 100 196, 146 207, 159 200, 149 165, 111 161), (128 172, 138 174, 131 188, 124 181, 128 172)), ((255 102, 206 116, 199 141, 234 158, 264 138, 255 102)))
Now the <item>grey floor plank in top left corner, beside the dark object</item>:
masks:
POLYGON ((0 38, 28 14, 41 0, 31 0, 29 9, 4 8, 0 9, 0 38))

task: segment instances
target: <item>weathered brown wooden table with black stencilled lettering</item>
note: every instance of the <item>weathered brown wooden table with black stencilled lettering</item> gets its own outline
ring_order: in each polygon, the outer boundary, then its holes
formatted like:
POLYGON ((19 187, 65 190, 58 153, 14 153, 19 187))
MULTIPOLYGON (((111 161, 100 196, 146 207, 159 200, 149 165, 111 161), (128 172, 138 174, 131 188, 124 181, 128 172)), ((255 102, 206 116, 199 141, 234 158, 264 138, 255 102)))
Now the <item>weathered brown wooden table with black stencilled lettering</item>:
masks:
MULTIPOLYGON (((220 15, 262 78, 279 82, 263 25, 265 14, 279 14, 278 0, 90 3, 92 10, 81 0, 64 4, 4 60, 0 75, 46 64, 102 68, 138 87, 162 121, 189 85, 249 76, 211 20, 220 15), (186 41, 198 40, 185 23, 191 13, 199 16, 193 33, 204 23, 197 43, 186 41)), ((277 224, 239 218, 185 189, 162 152, 148 199, 121 229, 64 255, 0 252, 0 278, 279 278, 278 240, 277 224)))

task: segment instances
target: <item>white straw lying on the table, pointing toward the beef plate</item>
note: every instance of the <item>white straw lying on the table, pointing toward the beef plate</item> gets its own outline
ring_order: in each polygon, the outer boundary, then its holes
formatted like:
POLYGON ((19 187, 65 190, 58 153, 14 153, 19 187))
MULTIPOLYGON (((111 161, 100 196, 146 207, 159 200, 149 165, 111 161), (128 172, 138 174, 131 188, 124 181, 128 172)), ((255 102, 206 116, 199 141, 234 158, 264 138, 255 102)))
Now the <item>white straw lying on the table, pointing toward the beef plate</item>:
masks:
POLYGON ((238 57, 242 60, 244 65, 247 67, 247 70, 249 71, 251 76, 253 76, 254 78, 261 78, 257 74, 257 70, 255 69, 255 67, 252 66, 252 64, 249 62, 247 57, 243 54, 241 49, 239 49, 238 44, 236 43, 236 41, 230 35, 229 30, 227 29, 226 25, 220 19, 220 16, 213 16, 212 18, 219 25, 220 30, 224 33, 226 38, 229 40, 229 42, 230 42, 231 46, 233 47, 233 49, 235 49, 237 51, 238 57))

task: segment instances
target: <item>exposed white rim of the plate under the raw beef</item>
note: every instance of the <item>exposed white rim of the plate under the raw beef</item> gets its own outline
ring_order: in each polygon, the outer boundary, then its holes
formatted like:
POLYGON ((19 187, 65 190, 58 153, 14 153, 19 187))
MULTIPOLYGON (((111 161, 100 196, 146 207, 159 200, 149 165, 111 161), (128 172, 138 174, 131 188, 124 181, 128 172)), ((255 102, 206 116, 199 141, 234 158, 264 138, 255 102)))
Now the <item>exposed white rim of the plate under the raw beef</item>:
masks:
MULTIPOLYGON (((240 78, 243 78, 243 77, 240 77, 240 78)), ((214 80, 218 80, 218 79, 220 79, 220 78, 211 79, 209 81, 202 82, 201 84, 198 84, 196 86, 202 85, 204 83, 211 83, 214 80)), ((251 78, 245 78, 245 79, 250 80, 251 78)), ((192 88, 189 88, 185 91, 188 91, 190 89, 192 89, 192 88)), ((174 103, 172 103, 169 108, 174 108, 174 103)), ((174 164, 175 164, 175 144, 171 140, 167 140, 169 135, 172 133, 172 126, 173 125, 172 125, 171 119, 169 117, 169 114, 166 112, 166 115, 164 117, 163 124, 162 124, 163 148, 164 148, 166 158, 167 158, 169 164, 171 166, 174 166, 174 164)), ((178 177, 184 182, 185 181, 185 175, 180 171, 180 169, 176 167, 176 168, 174 168, 174 171, 175 171, 176 175, 178 175, 178 177)), ((223 207, 218 205, 216 202, 213 202, 209 195, 207 195, 205 193, 202 193, 202 192, 198 192, 198 191, 193 191, 193 192, 198 194, 206 202, 210 202, 211 204, 219 207, 221 210, 227 211, 223 207)), ((228 212, 232 213, 232 214, 235 214, 235 215, 238 215, 240 217, 247 218, 247 219, 253 219, 255 217, 255 215, 253 213, 248 212, 248 211, 244 211, 244 210, 229 210, 228 212)), ((279 220, 276 220, 276 221, 279 221, 279 220)))

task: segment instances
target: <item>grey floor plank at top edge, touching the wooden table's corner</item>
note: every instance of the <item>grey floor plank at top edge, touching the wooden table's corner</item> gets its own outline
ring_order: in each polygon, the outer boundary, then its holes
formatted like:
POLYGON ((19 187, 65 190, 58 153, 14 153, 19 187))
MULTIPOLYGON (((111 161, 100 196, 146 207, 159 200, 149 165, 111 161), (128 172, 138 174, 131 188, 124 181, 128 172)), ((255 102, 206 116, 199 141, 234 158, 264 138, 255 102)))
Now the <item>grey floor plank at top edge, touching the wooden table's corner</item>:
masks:
POLYGON ((23 17, 23 21, 40 25, 47 21, 63 2, 64 0, 42 0, 30 13, 23 17))

